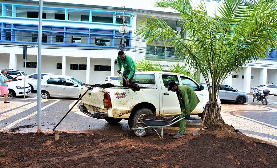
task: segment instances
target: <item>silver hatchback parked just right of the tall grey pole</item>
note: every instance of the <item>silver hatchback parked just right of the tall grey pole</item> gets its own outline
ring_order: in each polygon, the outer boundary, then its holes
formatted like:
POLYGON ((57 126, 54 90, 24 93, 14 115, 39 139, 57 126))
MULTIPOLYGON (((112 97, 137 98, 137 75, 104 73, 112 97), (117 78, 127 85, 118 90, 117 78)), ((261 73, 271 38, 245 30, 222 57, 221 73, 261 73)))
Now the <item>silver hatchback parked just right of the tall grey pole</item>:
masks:
POLYGON ((41 80, 41 99, 50 97, 79 98, 81 86, 85 85, 78 79, 67 75, 49 75, 41 80))

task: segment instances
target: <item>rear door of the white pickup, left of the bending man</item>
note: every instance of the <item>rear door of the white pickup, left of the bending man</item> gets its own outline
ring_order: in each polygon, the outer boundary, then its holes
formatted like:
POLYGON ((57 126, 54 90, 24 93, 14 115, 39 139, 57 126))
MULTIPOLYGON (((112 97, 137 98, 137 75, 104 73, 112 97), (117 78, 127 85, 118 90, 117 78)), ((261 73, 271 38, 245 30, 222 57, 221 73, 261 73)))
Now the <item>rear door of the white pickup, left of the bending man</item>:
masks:
POLYGON ((179 85, 177 75, 160 74, 162 97, 163 97, 163 116, 178 115, 181 113, 179 100, 175 92, 168 91, 168 82, 174 80, 179 85))

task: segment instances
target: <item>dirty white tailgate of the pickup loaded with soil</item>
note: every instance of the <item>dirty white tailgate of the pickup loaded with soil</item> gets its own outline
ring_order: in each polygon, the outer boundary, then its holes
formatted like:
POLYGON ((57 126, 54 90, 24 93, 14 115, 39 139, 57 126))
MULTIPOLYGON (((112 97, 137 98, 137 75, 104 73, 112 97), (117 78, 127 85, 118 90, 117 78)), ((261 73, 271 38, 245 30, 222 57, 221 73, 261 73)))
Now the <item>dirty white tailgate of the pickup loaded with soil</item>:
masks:
MULTIPOLYGON (((86 92, 87 87, 82 87, 82 94, 86 92)), ((105 88, 93 88, 82 97, 82 103, 93 106, 95 108, 104 109, 104 91, 105 88)))

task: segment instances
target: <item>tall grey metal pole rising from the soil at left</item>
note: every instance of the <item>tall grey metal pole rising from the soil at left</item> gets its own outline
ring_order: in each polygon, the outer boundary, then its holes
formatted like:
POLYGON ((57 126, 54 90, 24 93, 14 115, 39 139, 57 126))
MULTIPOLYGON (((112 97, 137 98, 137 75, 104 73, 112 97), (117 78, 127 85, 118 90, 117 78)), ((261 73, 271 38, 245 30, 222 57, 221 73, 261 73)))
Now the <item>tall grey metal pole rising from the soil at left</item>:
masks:
POLYGON ((40 76, 41 76, 41 39, 42 39, 42 0, 39 0, 39 15, 38 15, 38 133, 41 132, 41 113, 40 113, 40 76))

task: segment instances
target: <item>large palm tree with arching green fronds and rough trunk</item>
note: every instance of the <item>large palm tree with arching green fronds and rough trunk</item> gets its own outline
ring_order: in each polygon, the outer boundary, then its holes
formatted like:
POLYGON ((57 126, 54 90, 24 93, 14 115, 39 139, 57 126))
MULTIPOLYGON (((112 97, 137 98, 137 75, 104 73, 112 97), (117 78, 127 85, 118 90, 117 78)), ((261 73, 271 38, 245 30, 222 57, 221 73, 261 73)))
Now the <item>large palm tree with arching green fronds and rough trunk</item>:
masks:
POLYGON ((205 2, 198 10, 192 9, 189 0, 163 0, 156 6, 177 10, 183 31, 175 31, 163 19, 146 17, 137 33, 148 43, 156 38, 166 40, 187 65, 201 72, 211 103, 205 125, 211 128, 222 121, 217 88, 224 78, 243 65, 265 58, 270 47, 276 49, 277 1, 224 0, 220 14, 213 16, 207 14, 205 2), (181 37, 184 32, 188 37, 181 37))

